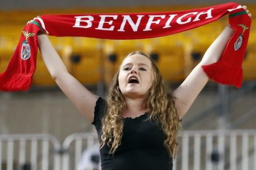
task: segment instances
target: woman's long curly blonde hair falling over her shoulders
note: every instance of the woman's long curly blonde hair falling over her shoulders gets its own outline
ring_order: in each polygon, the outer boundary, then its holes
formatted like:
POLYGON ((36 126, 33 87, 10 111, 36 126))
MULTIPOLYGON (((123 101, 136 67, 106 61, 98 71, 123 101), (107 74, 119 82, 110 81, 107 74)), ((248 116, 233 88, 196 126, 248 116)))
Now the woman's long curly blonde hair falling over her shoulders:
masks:
MULTIPOLYGON (((161 123, 165 135, 163 145, 167 148, 171 158, 175 158, 177 154, 177 135, 179 129, 179 116, 174 105, 172 95, 164 82, 155 62, 146 53, 135 51, 127 55, 129 57, 134 54, 143 55, 151 61, 153 70, 153 82, 148 90, 147 97, 144 101, 143 108, 147 109, 149 118, 161 123)), ((119 67, 120 70, 120 67, 119 67)), ((122 112, 125 110, 124 96, 118 89, 119 70, 113 78, 107 96, 107 114, 102 118, 102 135, 101 148, 107 144, 110 147, 109 154, 114 154, 117 147, 121 145, 123 134, 123 118, 122 112)))

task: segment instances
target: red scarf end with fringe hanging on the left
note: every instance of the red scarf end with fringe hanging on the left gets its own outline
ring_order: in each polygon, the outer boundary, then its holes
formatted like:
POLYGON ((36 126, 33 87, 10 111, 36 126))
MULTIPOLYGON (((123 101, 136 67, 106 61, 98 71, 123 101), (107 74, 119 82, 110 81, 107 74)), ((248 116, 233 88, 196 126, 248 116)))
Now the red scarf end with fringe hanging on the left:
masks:
POLYGON ((26 25, 23 30, 34 32, 33 37, 28 38, 31 57, 28 60, 21 59, 22 42, 26 40, 21 33, 18 46, 15 48, 14 54, 9 62, 7 69, 0 74, 0 90, 2 91, 21 91, 28 90, 32 83, 33 74, 36 69, 37 55, 37 37, 36 34, 40 30, 38 27, 26 25))

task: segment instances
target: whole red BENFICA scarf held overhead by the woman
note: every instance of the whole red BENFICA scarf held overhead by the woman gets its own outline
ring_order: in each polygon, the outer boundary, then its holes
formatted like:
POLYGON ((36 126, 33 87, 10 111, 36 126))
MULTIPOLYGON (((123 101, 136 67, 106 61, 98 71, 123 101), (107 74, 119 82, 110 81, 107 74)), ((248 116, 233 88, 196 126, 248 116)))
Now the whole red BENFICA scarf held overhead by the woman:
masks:
POLYGON ((31 86, 36 69, 37 33, 103 39, 142 39, 171 35, 200 27, 229 14, 235 30, 220 60, 203 70, 222 84, 241 87, 242 62, 249 38, 251 18, 236 3, 194 10, 158 13, 42 15, 23 29, 7 69, 0 74, 0 90, 21 91, 31 86))

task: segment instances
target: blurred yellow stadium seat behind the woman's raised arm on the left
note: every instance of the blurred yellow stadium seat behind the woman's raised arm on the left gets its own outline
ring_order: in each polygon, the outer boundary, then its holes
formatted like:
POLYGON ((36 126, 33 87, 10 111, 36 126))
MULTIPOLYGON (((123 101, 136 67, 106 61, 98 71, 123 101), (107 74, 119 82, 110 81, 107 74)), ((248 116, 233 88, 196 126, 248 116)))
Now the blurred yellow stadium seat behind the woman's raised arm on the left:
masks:
MULTIPOLYGON (((98 40, 87 38, 73 38, 73 40, 69 38, 60 39, 62 41, 59 41, 58 38, 51 38, 51 41, 69 73, 81 83, 97 83, 99 81, 101 57, 100 50, 97 48, 98 40), (69 44, 73 46, 69 46, 69 44)), ((41 56, 37 57, 37 69, 34 74, 33 84, 41 86, 55 85, 41 56)))

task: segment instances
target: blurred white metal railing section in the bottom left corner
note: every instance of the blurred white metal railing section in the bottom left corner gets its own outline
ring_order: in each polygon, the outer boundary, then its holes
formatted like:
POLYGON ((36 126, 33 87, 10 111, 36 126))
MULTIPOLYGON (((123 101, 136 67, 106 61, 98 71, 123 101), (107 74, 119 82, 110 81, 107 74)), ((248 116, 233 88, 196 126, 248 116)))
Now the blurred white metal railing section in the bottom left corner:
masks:
POLYGON ((0 135, 0 169, 29 166, 33 170, 60 170, 60 147, 59 141, 49 134, 0 135), (53 167, 49 167, 50 163, 53 167))

